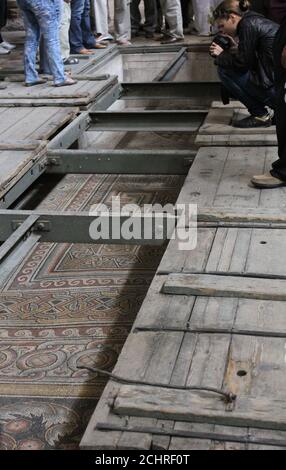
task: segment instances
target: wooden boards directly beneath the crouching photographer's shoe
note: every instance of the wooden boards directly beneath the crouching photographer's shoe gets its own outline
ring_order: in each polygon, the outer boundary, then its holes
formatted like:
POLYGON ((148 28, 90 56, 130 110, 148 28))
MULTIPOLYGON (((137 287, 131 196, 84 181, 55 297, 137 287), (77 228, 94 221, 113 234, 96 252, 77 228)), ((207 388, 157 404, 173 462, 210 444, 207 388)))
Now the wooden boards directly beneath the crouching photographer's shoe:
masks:
POLYGON ((273 146, 277 145, 275 126, 267 128, 239 129, 232 124, 249 116, 237 102, 222 107, 214 102, 201 126, 196 145, 200 146, 273 146))

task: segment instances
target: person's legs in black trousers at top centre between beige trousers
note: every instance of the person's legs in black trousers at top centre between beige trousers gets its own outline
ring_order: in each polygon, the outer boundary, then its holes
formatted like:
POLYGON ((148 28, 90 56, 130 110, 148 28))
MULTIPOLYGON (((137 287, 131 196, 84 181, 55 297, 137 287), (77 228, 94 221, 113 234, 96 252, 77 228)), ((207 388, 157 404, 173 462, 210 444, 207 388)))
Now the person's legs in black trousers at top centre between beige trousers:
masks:
MULTIPOLYGON (((140 24, 141 24, 141 13, 139 5, 141 0, 132 0, 131 1, 131 30, 132 35, 136 36, 139 33, 140 24)), ((144 0, 144 12, 145 12, 145 23, 143 30, 145 36, 148 39, 154 37, 154 33, 157 26, 157 5, 156 0, 144 0)))

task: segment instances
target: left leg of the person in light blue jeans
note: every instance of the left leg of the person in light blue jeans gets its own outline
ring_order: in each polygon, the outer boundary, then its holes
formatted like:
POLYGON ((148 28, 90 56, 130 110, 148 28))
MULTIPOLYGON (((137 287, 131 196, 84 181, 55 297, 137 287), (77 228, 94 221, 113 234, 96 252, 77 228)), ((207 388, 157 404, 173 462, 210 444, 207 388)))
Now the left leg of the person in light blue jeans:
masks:
POLYGON ((22 12, 26 31, 24 48, 24 68, 26 83, 35 83, 39 80, 36 70, 37 51, 40 42, 40 25, 25 0, 18 0, 18 6, 22 12))

